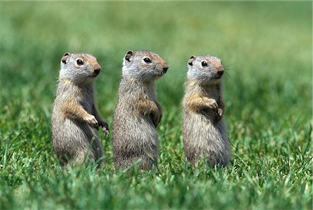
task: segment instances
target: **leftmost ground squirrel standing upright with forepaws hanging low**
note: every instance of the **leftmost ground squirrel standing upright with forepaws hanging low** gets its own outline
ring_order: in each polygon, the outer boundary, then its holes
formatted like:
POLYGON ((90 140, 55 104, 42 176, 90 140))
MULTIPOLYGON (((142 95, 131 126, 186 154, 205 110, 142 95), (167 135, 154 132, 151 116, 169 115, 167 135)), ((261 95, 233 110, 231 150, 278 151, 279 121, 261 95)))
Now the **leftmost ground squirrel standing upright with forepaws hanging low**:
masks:
POLYGON ((101 126, 105 134, 109 128, 99 116, 93 96, 93 80, 100 69, 93 55, 65 53, 61 59, 51 132, 54 151, 62 166, 97 161, 104 155, 98 128, 101 126))

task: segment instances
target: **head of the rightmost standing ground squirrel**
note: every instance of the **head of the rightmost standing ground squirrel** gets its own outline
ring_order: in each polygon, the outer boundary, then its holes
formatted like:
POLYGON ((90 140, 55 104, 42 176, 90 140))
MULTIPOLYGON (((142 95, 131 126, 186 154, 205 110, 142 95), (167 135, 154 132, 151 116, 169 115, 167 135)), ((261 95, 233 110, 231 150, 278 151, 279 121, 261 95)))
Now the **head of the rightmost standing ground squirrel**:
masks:
POLYGON ((201 84, 210 84, 220 81, 224 67, 219 58, 213 55, 192 55, 188 60, 187 78, 201 84))

